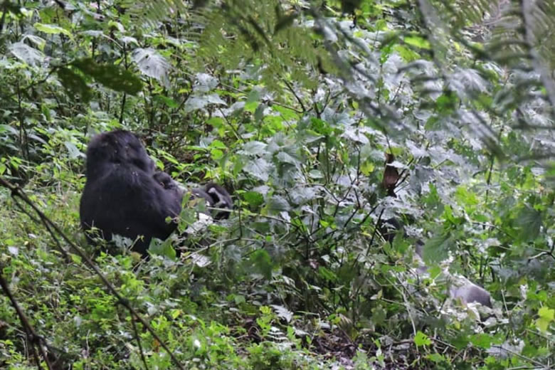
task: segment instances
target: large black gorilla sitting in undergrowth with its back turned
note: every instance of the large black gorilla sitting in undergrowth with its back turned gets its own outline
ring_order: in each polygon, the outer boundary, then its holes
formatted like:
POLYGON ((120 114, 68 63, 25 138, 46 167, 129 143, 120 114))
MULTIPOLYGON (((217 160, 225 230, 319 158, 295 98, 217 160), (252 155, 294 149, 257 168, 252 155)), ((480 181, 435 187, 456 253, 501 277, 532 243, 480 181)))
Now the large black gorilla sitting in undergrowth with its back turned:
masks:
MULTIPOLYGON (((87 149, 86 177, 81 226, 85 231, 100 231, 87 233, 89 243, 94 243, 95 236, 112 240, 116 234, 137 239, 133 250, 147 255, 152 238, 164 240, 176 229, 175 221, 166 220, 179 216, 183 191, 171 176, 154 171, 154 162, 131 132, 116 130, 94 137, 87 149)), ((208 185, 191 192, 203 196, 208 206, 233 207, 225 189, 208 185)), ((220 214, 229 213, 216 216, 220 214)))

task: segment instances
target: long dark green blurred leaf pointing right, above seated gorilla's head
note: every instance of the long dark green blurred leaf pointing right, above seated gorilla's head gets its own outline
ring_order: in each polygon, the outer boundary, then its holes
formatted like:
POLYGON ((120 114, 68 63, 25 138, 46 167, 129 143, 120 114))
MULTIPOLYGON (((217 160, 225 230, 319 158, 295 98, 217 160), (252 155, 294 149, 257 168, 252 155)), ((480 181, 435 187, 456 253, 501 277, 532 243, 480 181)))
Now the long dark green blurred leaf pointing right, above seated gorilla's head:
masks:
POLYGON ((137 95, 142 90, 142 82, 136 75, 120 65, 97 64, 92 59, 75 60, 72 65, 85 75, 90 75, 97 83, 115 91, 137 95))

